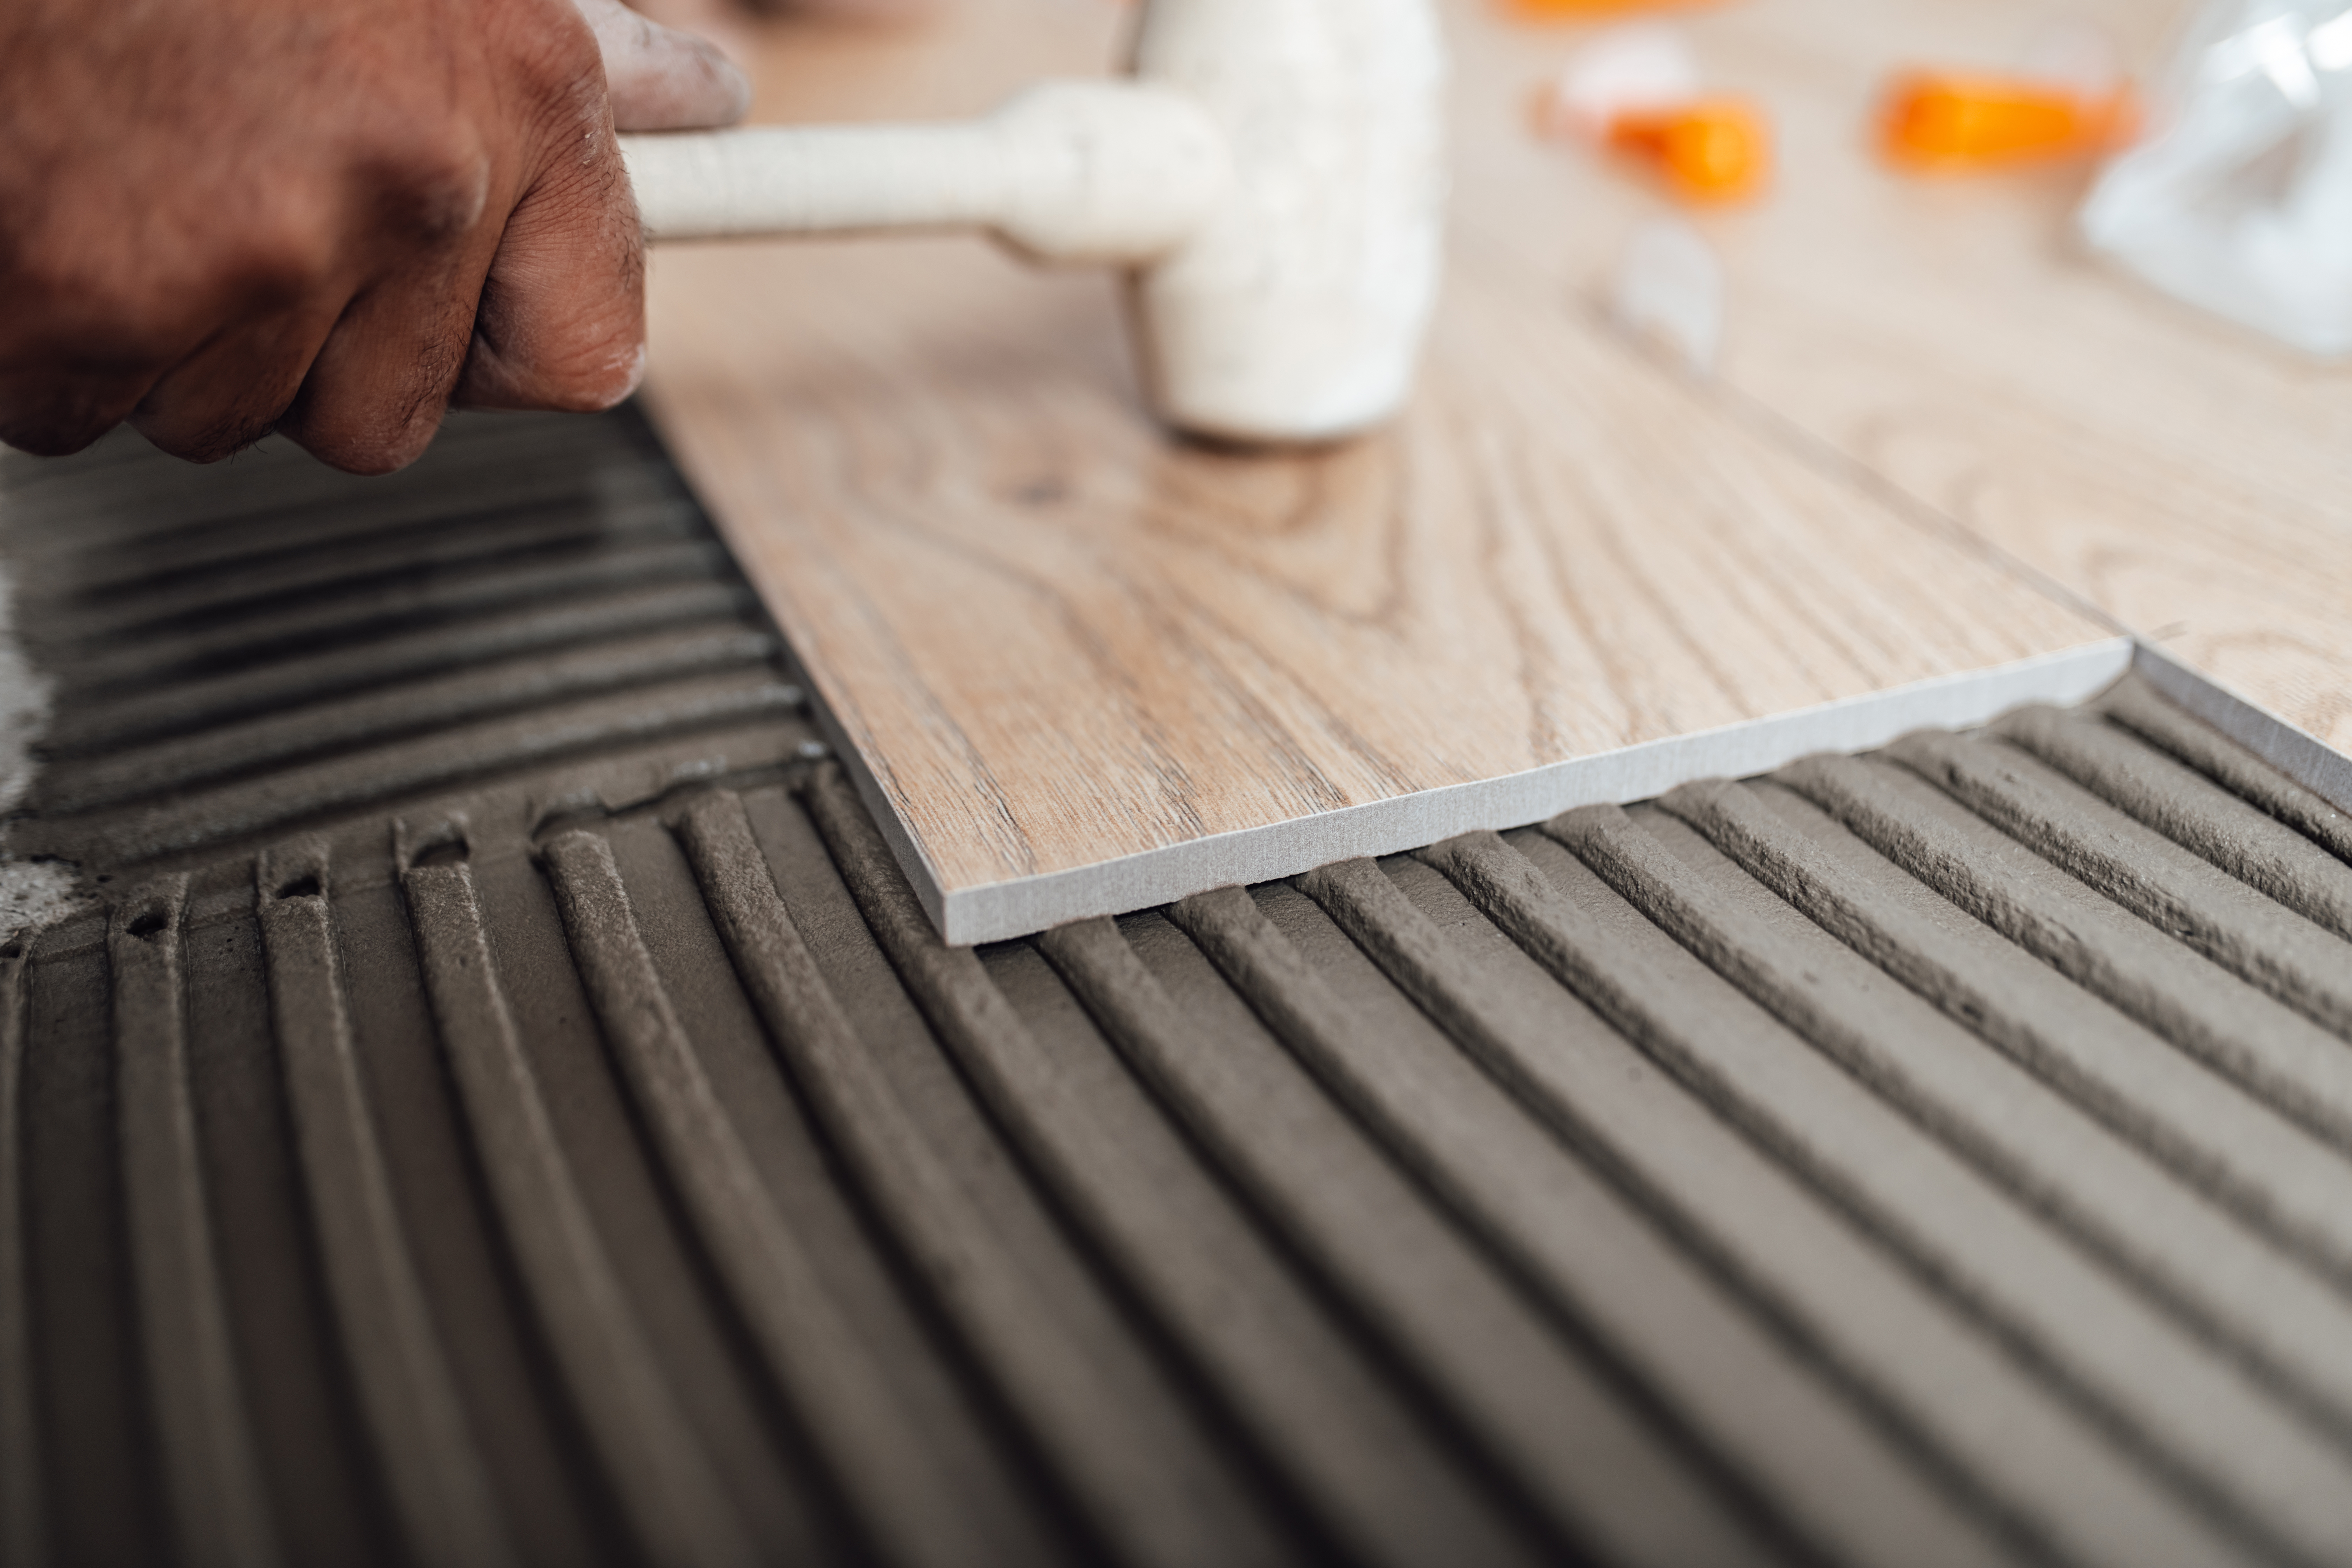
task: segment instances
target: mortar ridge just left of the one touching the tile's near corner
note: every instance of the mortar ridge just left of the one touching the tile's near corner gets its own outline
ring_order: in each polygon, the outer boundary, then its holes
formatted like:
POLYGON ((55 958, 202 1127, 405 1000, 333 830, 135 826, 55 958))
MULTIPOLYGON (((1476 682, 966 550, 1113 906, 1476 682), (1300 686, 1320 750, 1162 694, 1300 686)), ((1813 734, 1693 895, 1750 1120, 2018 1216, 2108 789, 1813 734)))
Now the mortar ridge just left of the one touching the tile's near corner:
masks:
MULTIPOLYGON (((903 999, 898 1018, 873 1016, 873 1001, 896 999, 887 961, 809 825, 790 806, 767 804, 774 830, 795 842, 786 872, 764 863, 746 802, 734 792, 689 806, 680 839, 779 1051, 929 1291, 971 1352, 995 1368, 1033 1441, 1122 1556, 1237 1568, 1279 1561, 1279 1537, 1188 1429, 1167 1389, 1155 1387, 1152 1368, 1134 1356, 1087 1276, 1070 1272, 1040 1232, 1042 1213, 1007 1180, 920 1018, 903 999), (790 903, 776 875, 786 877, 790 903), (854 966, 861 950, 870 959, 854 966), (851 999, 835 992, 828 969, 840 976, 835 983, 856 987, 851 999), (1103 1410, 1122 1410, 1127 1420, 1105 1422, 1103 1410)), ((875 884, 887 875, 880 860, 851 849, 842 870, 870 907, 891 900, 891 889, 875 884)), ((910 903, 898 910, 910 912, 910 903)), ((913 919, 922 919, 920 910, 913 919)), ((908 924, 903 933, 915 931, 908 924)), ((1042 1544, 1018 1554, 1042 1556, 1042 1544)))

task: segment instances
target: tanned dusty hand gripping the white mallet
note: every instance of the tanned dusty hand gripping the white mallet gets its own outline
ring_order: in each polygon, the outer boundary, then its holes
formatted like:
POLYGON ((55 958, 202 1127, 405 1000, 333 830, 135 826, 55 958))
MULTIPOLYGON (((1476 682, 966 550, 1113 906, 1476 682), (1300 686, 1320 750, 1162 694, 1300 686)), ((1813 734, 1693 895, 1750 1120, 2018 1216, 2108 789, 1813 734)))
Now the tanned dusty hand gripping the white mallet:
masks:
POLYGON ((5 0, 0 442, 282 430, 386 473, 449 402, 612 407, 644 364, 614 129, 746 101, 621 0, 5 0))

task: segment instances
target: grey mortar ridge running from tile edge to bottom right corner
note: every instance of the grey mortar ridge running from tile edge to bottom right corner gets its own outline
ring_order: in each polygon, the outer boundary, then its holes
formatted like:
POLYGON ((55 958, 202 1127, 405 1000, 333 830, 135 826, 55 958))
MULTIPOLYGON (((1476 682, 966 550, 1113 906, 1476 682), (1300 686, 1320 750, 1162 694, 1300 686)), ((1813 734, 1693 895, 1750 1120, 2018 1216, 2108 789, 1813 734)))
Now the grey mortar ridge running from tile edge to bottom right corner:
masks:
MULTIPOLYGON (((1639 844, 1613 806, 1559 818, 1550 832, 1595 865, 1611 860, 1606 849, 1639 844)), ((1545 886, 1505 860, 1508 846, 1489 839, 1463 844, 1451 865, 1531 954, 1710 1107, 1882 1237, 2044 1378, 2065 1380, 2098 1420, 2131 1434, 2239 1530, 2305 1554, 2333 1549, 2352 1523, 2336 1481, 2343 1455, 2244 1389, 2201 1335, 2117 1288, 2004 1204, 1945 1143, 1907 1133, 1879 1095, 1823 1056, 1792 1048, 1795 1039, 1759 1011, 1717 1001, 1724 983, 1658 926, 1628 919, 1583 867, 1559 867, 1555 886, 1545 886), (2166 1378, 2147 1380, 2150 1363, 2164 1363, 2166 1378), (2216 1439, 2218 1429, 2230 1436, 2216 1439)))

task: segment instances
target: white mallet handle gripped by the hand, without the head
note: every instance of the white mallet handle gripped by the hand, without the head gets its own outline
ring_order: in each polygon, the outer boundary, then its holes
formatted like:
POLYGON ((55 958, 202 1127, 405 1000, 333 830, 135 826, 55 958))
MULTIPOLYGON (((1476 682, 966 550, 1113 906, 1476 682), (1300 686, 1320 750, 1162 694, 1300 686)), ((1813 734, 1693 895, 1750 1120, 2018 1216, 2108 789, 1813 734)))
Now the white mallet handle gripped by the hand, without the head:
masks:
POLYGON ((652 240, 985 228, 1047 261, 1136 263, 1225 193, 1225 139, 1143 82, 1047 82, 964 125, 621 136, 652 240))

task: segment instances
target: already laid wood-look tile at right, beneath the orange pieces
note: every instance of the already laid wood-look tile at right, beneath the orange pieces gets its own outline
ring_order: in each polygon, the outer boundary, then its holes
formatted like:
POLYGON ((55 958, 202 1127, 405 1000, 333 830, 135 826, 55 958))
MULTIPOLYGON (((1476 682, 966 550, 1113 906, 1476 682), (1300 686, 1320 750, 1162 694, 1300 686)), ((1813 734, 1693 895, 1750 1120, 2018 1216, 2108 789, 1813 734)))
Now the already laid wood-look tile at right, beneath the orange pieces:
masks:
MULTIPOLYGON (((2161 66, 2183 5, 2098 0, 2161 66)), ((1461 19, 1468 21, 1468 12, 1461 19)), ((1867 477, 2056 578, 2180 663, 2352 748, 2352 371, 2176 306, 2084 254, 2091 172, 1919 181, 1865 127, 1898 63, 2002 66, 2044 12, 1978 0, 1759 0, 1689 19, 1712 80, 1764 99, 1783 179, 1700 219, 1724 259, 1722 378, 1792 449, 1867 477)), ((1583 33, 1456 31, 1468 75, 1522 85, 1583 33)), ((1658 207, 1621 172, 1531 143, 1510 103, 1465 115, 1468 179, 1552 190, 1482 242, 1590 292, 1658 207)), ((1463 202, 1465 221, 1501 212, 1463 202)))

